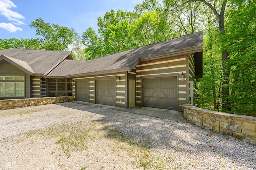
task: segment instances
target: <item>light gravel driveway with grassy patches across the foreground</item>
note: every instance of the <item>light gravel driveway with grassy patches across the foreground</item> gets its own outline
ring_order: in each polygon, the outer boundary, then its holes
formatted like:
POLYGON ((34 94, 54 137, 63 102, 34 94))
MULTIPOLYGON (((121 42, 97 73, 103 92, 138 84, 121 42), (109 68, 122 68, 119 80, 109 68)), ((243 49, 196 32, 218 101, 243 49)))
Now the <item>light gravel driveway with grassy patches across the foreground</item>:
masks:
POLYGON ((0 111, 0 169, 256 169, 256 146, 78 103, 0 111))

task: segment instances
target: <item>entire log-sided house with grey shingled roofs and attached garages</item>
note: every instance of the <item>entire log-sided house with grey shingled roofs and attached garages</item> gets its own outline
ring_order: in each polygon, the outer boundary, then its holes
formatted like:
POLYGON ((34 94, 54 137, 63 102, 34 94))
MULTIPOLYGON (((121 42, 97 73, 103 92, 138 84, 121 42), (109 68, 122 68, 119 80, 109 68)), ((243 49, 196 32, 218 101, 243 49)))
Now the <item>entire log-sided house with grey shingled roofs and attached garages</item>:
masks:
POLYGON ((74 95, 116 107, 181 111, 202 77, 202 32, 76 61, 69 51, 0 51, 0 99, 74 95))

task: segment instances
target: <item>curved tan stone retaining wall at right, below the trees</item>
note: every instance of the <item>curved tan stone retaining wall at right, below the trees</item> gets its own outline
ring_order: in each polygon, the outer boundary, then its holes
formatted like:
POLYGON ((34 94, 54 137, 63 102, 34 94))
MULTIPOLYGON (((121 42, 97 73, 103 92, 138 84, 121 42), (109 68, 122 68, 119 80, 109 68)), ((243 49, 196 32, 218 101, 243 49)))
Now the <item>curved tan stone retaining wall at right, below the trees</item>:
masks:
POLYGON ((256 145, 256 117, 234 115, 183 105, 183 116, 201 128, 243 139, 256 145))

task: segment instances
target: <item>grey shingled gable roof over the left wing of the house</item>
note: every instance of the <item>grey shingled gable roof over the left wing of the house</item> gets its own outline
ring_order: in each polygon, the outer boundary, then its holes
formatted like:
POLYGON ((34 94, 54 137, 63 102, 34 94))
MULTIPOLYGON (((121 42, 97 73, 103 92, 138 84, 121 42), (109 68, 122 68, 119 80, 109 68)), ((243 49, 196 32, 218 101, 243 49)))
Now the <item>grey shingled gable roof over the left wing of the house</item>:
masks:
POLYGON ((8 62, 16 63, 33 74, 47 75, 64 59, 73 59, 70 51, 5 49, 0 51, 8 62), (30 67, 30 68, 29 68, 30 67))

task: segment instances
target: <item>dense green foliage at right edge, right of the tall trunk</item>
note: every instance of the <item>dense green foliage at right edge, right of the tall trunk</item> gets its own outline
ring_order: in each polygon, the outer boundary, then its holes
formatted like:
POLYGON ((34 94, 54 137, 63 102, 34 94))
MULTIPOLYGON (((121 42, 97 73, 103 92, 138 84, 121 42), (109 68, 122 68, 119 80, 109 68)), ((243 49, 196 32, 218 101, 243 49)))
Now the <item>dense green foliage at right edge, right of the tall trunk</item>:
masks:
POLYGON ((256 2, 231 0, 222 46, 230 59, 231 113, 256 115, 256 2))

